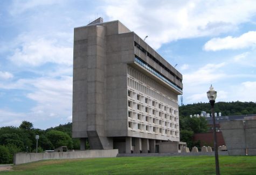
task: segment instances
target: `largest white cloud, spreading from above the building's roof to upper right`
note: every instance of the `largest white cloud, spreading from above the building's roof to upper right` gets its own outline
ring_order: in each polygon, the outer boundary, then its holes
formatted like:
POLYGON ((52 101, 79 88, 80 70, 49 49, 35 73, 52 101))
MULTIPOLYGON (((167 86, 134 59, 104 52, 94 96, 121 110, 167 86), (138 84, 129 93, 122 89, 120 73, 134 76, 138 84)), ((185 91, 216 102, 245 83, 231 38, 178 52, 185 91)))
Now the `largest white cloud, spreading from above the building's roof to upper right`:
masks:
POLYGON ((153 48, 170 41, 234 30, 250 21, 255 1, 106 1, 110 20, 120 20, 153 48), (129 16, 129 18, 127 18, 129 16), (157 31, 157 32, 156 32, 157 31))

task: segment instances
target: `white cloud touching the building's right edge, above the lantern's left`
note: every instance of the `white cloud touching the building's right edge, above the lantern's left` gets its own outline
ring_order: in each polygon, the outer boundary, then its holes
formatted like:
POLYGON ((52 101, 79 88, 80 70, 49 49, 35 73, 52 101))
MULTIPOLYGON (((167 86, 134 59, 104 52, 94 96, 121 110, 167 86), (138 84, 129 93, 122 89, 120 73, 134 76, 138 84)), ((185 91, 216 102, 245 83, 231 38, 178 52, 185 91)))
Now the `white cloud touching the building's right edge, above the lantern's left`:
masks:
POLYGON ((224 67, 224 65, 225 63, 206 64, 204 67, 198 68, 196 71, 183 74, 184 86, 211 84, 216 82, 218 79, 225 78, 226 75, 220 69, 224 67))

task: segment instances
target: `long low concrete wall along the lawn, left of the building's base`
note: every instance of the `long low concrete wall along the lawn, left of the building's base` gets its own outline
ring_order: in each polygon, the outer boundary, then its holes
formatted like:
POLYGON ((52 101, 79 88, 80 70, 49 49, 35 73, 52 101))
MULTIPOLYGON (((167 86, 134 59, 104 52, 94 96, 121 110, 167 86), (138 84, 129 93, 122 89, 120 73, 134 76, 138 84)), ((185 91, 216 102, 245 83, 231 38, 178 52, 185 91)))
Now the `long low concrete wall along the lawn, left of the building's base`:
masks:
POLYGON ((117 149, 15 154, 13 158, 13 164, 24 164, 29 162, 41 161, 44 159, 116 157, 117 154, 117 149))

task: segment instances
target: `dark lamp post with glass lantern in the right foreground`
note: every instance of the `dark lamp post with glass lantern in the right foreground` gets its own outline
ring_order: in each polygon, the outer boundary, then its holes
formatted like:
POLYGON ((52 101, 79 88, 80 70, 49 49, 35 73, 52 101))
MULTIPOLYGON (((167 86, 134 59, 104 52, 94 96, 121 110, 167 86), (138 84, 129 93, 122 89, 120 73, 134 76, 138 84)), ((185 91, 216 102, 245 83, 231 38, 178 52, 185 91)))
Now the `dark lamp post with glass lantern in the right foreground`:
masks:
POLYGON ((212 112, 212 124, 213 124, 213 138, 214 138, 214 151, 215 151, 215 167, 216 174, 219 175, 219 156, 218 156, 218 147, 217 147, 217 136, 216 136, 216 125, 215 125, 215 113, 214 113, 214 104, 215 99, 217 97, 217 92, 213 90, 211 85, 210 90, 207 92, 207 97, 211 104, 211 112, 212 112))

